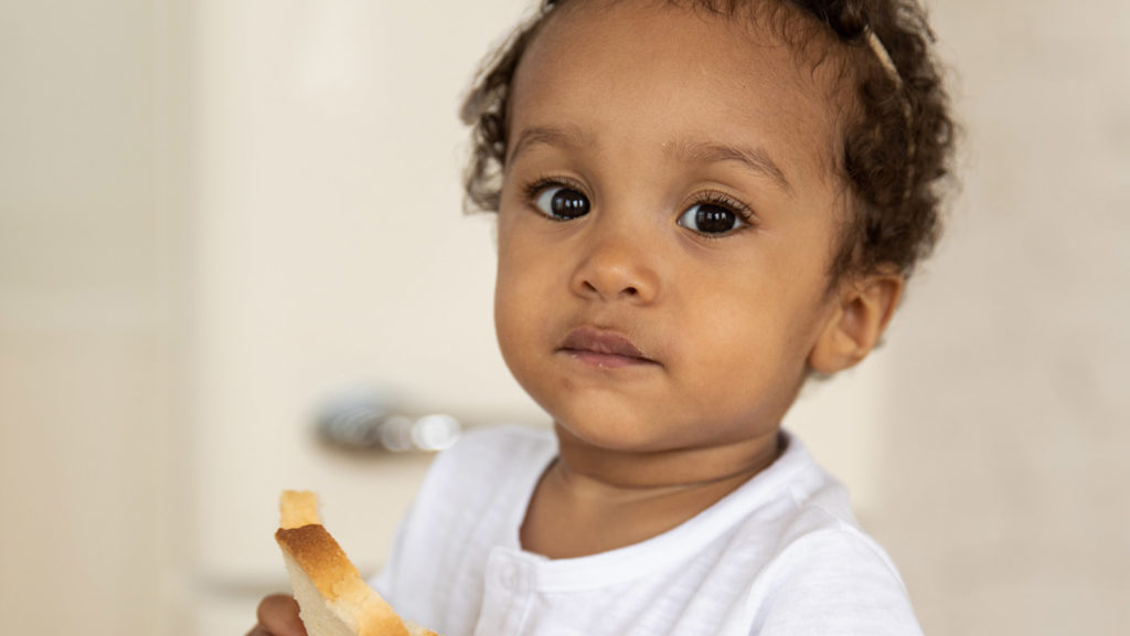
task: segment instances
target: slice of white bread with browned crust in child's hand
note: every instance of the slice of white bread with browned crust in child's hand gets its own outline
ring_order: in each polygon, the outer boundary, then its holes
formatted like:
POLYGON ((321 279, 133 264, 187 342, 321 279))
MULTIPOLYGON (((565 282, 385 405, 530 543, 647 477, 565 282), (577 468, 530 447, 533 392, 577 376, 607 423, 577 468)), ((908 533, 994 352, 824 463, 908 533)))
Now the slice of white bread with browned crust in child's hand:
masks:
POLYGON ((360 577, 318 516, 318 495, 287 490, 275 540, 310 636, 436 636, 402 621, 360 577))

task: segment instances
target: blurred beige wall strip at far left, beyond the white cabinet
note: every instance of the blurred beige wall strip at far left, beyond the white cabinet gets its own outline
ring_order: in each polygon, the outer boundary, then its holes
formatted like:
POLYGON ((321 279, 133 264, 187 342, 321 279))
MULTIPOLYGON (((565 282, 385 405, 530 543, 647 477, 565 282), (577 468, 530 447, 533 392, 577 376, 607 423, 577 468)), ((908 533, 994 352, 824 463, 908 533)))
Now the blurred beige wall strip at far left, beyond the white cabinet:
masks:
POLYGON ((160 633, 154 8, 0 15, 0 633, 160 633))

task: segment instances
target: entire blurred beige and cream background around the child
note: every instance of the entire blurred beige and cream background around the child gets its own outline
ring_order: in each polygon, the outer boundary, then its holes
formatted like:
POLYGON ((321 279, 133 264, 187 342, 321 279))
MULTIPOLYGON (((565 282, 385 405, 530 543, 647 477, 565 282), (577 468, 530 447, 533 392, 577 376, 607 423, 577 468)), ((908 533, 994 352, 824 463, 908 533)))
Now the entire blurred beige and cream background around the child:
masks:
MULTIPOLYGON (((366 573, 429 455, 327 409, 545 418, 460 214, 525 0, 0 0, 0 633, 244 634, 282 488, 366 573)), ((883 347, 789 427, 928 634, 1130 633, 1130 3, 932 2, 965 131, 883 347)))

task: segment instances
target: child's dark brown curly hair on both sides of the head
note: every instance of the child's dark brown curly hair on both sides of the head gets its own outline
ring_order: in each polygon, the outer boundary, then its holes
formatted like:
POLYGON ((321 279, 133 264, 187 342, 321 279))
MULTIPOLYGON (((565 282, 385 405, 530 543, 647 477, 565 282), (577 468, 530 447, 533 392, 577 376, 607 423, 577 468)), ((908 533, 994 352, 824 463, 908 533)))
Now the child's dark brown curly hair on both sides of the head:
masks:
MULTIPOLYGON (((575 1, 544 0, 477 75, 461 113, 473 127, 464 175, 467 210, 497 212, 511 81, 548 18, 575 1)), ((781 34, 806 53, 809 44, 826 41, 817 46, 814 62, 840 65, 841 80, 849 83, 840 89, 854 96, 834 146, 840 155, 834 165, 850 197, 832 282, 844 274, 910 276, 940 233, 939 204, 955 132, 940 67, 930 51, 935 35, 922 8, 914 0, 667 1, 727 16, 767 8, 783 18, 774 20, 781 34)))

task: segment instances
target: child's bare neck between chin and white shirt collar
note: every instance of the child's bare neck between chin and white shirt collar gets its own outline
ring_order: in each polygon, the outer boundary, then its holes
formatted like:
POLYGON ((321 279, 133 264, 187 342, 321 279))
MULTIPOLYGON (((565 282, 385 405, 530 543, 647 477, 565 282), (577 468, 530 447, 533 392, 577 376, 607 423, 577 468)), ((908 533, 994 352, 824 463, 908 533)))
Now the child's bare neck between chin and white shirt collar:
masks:
POLYGON ((776 432, 739 444, 664 453, 594 449, 557 427, 560 455, 534 491, 522 547, 574 558, 645 541, 687 522, 765 470, 776 432))

